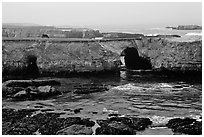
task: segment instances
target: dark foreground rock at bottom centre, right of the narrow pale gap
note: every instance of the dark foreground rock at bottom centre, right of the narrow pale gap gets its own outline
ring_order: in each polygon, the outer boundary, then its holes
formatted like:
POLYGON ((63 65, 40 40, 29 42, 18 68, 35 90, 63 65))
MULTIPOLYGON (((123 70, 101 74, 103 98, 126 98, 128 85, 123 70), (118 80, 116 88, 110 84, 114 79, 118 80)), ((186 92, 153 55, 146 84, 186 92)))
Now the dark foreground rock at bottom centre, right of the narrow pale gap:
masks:
POLYGON ((148 118, 111 117, 107 120, 97 120, 100 125, 96 129, 97 135, 135 135, 152 124, 148 118))

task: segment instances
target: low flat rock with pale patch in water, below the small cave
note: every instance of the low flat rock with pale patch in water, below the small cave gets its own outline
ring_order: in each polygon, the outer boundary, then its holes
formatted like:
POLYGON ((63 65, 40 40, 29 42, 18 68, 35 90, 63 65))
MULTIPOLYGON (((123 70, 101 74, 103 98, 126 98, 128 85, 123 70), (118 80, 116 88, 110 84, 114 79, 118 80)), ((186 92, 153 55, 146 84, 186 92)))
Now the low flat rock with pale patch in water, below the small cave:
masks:
POLYGON ((9 80, 2 84, 2 95, 15 100, 45 99, 60 95, 61 92, 51 85, 60 83, 55 80, 9 80))

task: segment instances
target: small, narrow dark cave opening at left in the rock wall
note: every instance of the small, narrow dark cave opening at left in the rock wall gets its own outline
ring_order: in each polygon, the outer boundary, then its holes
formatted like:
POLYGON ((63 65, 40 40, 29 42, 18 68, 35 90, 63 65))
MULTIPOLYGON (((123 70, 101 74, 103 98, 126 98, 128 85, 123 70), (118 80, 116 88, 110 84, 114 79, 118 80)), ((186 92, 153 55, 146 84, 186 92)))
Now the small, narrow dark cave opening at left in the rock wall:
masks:
POLYGON ((39 69, 37 66, 37 57, 34 55, 27 56, 26 74, 32 77, 37 77, 39 75, 39 69))

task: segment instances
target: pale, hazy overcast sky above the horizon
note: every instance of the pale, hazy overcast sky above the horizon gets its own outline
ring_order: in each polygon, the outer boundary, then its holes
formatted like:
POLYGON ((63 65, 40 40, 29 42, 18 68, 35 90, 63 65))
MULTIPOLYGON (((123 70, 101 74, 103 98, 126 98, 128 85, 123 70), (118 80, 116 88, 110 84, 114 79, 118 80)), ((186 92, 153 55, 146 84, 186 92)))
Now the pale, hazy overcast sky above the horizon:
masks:
POLYGON ((201 3, 2 3, 3 23, 70 26, 202 24, 201 3))

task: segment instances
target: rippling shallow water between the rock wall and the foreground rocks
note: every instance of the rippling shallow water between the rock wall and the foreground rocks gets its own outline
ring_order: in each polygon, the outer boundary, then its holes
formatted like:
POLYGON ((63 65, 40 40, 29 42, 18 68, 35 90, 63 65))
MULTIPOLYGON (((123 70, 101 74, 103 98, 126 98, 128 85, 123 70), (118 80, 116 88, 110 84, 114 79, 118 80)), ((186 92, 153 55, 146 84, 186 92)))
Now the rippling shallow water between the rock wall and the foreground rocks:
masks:
MULTIPOLYGON (((36 101, 13 102, 5 99, 3 108, 53 109, 55 112, 64 112, 62 117, 80 116, 92 120, 106 119, 109 113, 119 113, 148 117, 153 121, 152 127, 163 127, 174 117, 199 120, 202 115, 202 83, 191 78, 187 80, 161 77, 151 72, 121 71, 120 76, 54 79, 61 82, 57 89, 64 91, 63 95, 36 101), (91 83, 103 84, 108 90, 82 95, 73 93, 77 85, 91 83), (77 108, 81 108, 81 111, 75 114, 73 110, 77 108)), ((154 133, 172 134, 164 128, 143 132, 154 133)))

